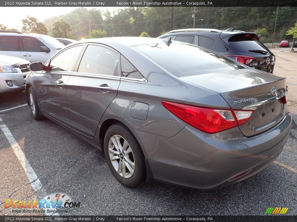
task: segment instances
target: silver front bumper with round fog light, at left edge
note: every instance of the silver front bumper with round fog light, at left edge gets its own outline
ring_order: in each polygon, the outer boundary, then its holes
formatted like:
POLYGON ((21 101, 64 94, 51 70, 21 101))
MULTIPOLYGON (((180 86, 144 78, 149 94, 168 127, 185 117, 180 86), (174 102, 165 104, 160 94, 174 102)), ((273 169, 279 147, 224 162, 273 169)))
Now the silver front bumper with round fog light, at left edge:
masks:
POLYGON ((0 93, 14 92, 25 89, 26 79, 23 73, 2 73, 0 75, 0 93), (12 86, 8 86, 6 81, 11 81, 12 86))

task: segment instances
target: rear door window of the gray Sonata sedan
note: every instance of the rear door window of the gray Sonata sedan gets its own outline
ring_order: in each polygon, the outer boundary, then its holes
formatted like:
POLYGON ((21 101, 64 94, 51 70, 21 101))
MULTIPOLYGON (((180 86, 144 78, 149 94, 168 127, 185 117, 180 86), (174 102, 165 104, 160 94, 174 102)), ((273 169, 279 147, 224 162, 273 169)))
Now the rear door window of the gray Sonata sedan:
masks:
POLYGON ((78 72, 118 76, 118 55, 108 48, 88 45, 78 72))

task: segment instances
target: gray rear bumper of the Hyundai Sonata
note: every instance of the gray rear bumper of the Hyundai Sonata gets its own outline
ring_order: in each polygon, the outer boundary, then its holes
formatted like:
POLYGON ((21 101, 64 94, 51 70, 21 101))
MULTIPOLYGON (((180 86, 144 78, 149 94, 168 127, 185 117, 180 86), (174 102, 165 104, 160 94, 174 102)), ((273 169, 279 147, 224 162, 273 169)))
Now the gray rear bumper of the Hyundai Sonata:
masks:
POLYGON ((291 114, 287 113, 278 125, 250 138, 238 127, 206 134, 187 125, 171 138, 132 132, 144 148, 156 181, 215 189, 246 179, 273 162, 288 139, 291 123, 291 114), (248 170, 246 175, 229 181, 248 170))

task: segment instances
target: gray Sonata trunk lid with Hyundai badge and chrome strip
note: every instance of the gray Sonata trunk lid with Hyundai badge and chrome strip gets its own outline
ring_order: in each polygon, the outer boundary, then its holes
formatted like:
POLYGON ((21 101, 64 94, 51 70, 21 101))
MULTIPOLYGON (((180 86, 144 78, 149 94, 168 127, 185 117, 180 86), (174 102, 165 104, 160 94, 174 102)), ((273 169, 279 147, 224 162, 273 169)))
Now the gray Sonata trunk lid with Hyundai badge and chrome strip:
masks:
POLYGON ((249 121, 239 125, 247 137, 270 129, 287 112, 287 105, 279 99, 287 93, 286 79, 267 72, 248 68, 181 79, 219 93, 231 109, 254 110, 249 121), (277 92, 273 95, 274 87, 277 92))

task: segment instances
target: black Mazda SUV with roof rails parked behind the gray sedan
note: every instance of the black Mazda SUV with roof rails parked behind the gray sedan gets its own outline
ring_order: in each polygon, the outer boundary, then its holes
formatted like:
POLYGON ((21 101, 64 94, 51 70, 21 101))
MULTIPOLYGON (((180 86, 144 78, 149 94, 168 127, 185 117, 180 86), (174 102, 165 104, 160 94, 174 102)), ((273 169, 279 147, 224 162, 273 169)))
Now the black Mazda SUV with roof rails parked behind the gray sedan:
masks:
POLYGON ((172 37, 172 40, 192 43, 228 56, 240 63, 265 72, 273 73, 275 56, 259 41, 260 35, 236 31, 234 28, 180 29, 167 32, 158 38, 172 37))

